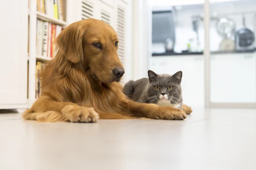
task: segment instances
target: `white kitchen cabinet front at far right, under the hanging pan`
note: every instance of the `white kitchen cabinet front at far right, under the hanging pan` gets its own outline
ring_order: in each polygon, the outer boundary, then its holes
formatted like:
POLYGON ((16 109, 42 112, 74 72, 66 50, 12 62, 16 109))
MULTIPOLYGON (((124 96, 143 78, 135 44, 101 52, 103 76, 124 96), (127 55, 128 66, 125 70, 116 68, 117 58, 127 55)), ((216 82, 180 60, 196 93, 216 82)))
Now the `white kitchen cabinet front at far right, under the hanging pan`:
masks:
POLYGON ((210 73, 212 103, 256 102, 255 54, 212 54, 210 73))

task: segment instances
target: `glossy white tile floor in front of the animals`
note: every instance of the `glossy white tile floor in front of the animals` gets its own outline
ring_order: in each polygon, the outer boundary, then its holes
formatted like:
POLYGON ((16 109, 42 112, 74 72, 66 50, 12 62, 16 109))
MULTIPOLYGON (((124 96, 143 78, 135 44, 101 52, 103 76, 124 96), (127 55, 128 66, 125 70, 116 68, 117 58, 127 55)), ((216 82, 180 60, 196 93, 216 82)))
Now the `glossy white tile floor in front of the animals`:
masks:
POLYGON ((256 170, 256 110, 183 121, 38 123, 0 114, 0 170, 256 170))

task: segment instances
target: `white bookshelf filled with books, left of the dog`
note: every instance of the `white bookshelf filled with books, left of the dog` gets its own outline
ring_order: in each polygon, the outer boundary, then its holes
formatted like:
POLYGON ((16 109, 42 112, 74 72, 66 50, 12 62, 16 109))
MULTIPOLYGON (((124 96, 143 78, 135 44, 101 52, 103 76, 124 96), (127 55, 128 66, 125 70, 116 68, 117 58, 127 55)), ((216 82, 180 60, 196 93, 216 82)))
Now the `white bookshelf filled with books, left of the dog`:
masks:
POLYGON ((61 28, 68 25, 66 21, 67 3, 71 4, 72 0, 29 0, 29 50, 27 57, 29 107, 39 96, 38 72, 42 67, 41 63, 53 59, 52 44, 62 30, 61 28), (56 11, 57 13, 55 13, 56 11))

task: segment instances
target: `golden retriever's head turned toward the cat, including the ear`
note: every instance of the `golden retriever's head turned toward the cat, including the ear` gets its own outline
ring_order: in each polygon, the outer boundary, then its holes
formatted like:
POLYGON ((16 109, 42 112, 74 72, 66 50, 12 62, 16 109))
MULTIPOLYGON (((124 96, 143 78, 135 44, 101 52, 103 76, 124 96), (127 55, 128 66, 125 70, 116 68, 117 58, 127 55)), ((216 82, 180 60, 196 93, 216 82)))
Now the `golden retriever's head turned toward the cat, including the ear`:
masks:
POLYGON ((58 52, 74 64, 90 69, 101 82, 119 81, 125 73, 119 60, 118 36, 114 29, 96 19, 81 20, 67 26, 55 43, 58 52))

